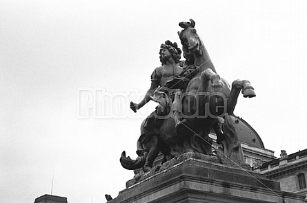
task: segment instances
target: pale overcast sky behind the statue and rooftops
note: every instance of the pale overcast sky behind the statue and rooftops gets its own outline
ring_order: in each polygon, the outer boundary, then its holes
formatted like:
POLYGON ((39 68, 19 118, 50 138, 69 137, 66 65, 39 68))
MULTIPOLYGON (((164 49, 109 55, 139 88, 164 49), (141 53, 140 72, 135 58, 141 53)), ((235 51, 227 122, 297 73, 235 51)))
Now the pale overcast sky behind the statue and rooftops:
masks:
POLYGON ((77 118, 77 89, 146 92, 159 46, 180 43, 189 19, 217 72, 255 87, 235 114, 277 157, 306 149, 306 10, 307 1, 0 1, 0 202, 34 202, 52 173, 53 194, 68 202, 117 197, 133 176, 119 156, 136 157, 142 119, 77 118))

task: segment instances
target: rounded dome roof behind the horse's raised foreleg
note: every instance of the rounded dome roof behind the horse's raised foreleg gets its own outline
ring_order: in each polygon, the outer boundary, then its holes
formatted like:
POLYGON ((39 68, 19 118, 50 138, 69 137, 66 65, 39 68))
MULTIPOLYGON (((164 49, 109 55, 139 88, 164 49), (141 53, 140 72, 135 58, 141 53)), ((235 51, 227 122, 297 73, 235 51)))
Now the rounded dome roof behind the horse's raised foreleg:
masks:
POLYGON ((258 133, 248 124, 248 122, 238 116, 230 117, 235 122, 235 129, 241 142, 245 142, 246 144, 255 147, 264 148, 264 142, 262 142, 258 133))

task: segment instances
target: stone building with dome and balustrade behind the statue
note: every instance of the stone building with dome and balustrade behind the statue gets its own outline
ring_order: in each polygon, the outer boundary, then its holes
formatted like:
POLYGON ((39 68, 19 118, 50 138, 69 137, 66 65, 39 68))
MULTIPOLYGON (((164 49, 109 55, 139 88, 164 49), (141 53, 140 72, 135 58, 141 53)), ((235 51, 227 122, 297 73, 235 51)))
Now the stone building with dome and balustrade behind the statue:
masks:
MULTIPOLYGON (((280 183, 281 191, 307 195, 307 149, 290 155, 281 150, 280 158, 264 148, 259 134, 242 118, 232 116, 246 162, 253 171, 261 172, 270 180, 280 183)), ((214 133, 210 135, 216 138, 214 133)), ((215 139, 214 139, 215 140, 215 139)))

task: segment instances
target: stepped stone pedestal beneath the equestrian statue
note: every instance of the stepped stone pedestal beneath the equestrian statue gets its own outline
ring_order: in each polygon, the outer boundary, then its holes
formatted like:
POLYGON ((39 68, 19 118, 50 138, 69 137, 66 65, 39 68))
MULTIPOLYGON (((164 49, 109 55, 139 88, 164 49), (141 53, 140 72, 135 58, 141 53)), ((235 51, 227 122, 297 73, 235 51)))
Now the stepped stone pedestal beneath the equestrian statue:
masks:
POLYGON ((304 195, 280 191, 279 182, 210 159, 187 158, 144 178, 127 182, 127 189, 108 203, 285 202, 302 203, 304 195), (131 184, 131 183, 134 184, 131 184))

